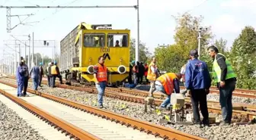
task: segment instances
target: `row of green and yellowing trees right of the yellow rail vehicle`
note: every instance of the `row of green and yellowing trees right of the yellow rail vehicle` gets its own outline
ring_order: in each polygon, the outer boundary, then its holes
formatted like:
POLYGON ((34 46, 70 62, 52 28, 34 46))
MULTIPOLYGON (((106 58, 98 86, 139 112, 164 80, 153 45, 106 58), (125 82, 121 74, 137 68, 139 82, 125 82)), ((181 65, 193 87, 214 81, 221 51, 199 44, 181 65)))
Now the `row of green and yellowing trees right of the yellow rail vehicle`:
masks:
MULTIPOLYGON (((167 72, 177 73, 189 59, 189 51, 198 48, 198 32, 203 17, 193 17, 190 14, 181 14, 176 18, 177 26, 174 34, 174 44, 165 47, 158 46, 154 54, 149 52, 146 44, 139 42, 139 61, 150 62, 155 56, 158 68, 167 72)), ((238 37, 228 48, 226 39, 213 40, 210 26, 202 32, 200 60, 206 61, 208 69, 213 71, 213 59, 207 53, 207 48, 215 45, 219 52, 225 54, 231 61, 237 75, 237 88, 256 89, 256 32, 252 26, 245 26, 238 37)), ((131 40, 130 61, 135 60, 136 40, 131 40)), ((213 85, 216 86, 216 85, 213 85)))

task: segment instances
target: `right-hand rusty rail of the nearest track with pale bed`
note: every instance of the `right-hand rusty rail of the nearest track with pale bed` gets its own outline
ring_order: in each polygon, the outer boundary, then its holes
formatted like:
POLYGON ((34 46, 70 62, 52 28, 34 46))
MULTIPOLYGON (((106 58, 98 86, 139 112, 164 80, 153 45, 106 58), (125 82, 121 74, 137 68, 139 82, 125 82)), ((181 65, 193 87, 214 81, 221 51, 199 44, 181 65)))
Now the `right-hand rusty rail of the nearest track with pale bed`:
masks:
MULTIPOLYGON (((8 85, 8 86, 12 86, 14 88, 18 87, 16 85, 8 83, 8 82, 0 81, 0 83, 8 85)), ((33 93, 35 95, 40 95, 43 98, 48 98, 50 100, 53 100, 53 101, 56 101, 56 102, 59 102, 62 104, 66 104, 70 107, 74 107, 78 110, 83 110, 85 112, 97 115, 98 117, 102 117, 107 120, 115 121, 116 123, 121 123, 122 125, 132 126, 133 129, 139 129, 140 131, 147 132, 148 134, 159 136, 164 139, 176 139, 176 140, 178 140, 178 139, 204 140, 205 139, 205 138, 200 138, 196 135, 190 135, 190 134, 187 134, 185 132, 181 132, 181 131, 178 131, 175 129, 170 129, 170 128, 167 128, 164 126, 158 126, 158 125, 148 123, 145 121, 136 120, 131 117, 126 117, 124 115, 115 114, 115 113, 107 111, 107 110, 101 110, 96 107, 91 107, 91 106, 88 106, 85 104, 80 104, 75 101, 69 101, 65 98, 59 98, 54 95, 49 95, 49 94, 46 94, 43 92, 37 92, 37 91, 34 91, 33 89, 28 88, 27 92, 33 93)))

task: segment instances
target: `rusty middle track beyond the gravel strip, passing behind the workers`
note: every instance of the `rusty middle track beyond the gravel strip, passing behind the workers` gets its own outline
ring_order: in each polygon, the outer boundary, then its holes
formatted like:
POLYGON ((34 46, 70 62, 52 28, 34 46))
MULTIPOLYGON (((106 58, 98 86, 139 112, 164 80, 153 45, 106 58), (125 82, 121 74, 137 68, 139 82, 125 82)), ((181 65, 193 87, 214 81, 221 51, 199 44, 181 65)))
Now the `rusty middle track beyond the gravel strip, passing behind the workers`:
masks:
MULTIPOLYGON (((7 82, 2 82, 5 84, 9 84, 7 82)), ((44 84, 46 84, 45 81, 43 81, 44 84)), ((76 86, 66 86, 66 85, 56 85, 59 88, 62 89, 74 89, 78 91, 84 91, 89 93, 97 94, 98 91, 95 87, 91 86, 85 86, 85 87, 76 87, 76 86)), ((142 92, 140 90, 130 90, 130 89, 117 89, 117 88, 107 88, 105 91, 105 96, 110 98, 118 98, 123 101, 130 101, 140 104, 145 104, 145 97, 148 95, 147 92, 142 92)), ((160 94, 155 94, 155 98, 165 98, 165 96, 160 94)), ((162 99, 155 99, 155 104, 159 105, 162 103, 162 99)), ((190 98, 185 98, 186 101, 186 108, 190 107, 190 98)), ((254 117, 256 117, 256 113, 254 112, 256 109, 256 106, 254 104, 233 104, 233 115, 238 117, 245 117, 248 118, 248 120, 252 120, 254 117)), ((208 101, 208 110, 211 113, 221 114, 221 108, 219 106, 218 101, 208 101)))

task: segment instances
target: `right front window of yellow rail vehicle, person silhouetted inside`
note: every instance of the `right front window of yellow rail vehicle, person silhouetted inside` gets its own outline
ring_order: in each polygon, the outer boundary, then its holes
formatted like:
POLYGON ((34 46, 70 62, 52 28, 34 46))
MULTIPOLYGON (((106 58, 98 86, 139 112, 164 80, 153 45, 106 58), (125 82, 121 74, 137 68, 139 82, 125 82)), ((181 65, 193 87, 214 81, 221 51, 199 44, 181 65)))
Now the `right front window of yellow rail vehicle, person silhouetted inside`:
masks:
POLYGON ((107 34, 107 47, 127 47, 128 34, 107 34))

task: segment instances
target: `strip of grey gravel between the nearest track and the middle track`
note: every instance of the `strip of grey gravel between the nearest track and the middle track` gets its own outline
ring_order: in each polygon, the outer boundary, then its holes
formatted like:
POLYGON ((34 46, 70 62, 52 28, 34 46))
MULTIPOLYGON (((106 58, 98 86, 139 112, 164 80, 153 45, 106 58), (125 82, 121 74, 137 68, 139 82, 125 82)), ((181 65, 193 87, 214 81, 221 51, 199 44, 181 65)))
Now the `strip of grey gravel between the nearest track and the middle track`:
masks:
MULTIPOLYGON (((5 82, 15 83, 15 81, 11 81, 10 79, 5 79, 5 82)), ((29 87, 32 88, 31 83, 29 83, 29 87)), ((72 101, 77 101, 82 104, 88 104, 91 106, 97 105, 97 95, 94 94, 88 94, 71 89, 52 89, 45 85, 43 85, 42 88, 39 88, 39 91, 62 98, 67 98, 72 101)), ((104 107, 106 107, 106 110, 110 110, 117 114, 123 114, 139 120, 145 120, 158 124, 159 116, 154 112, 144 113, 143 104, 135 104, 127 101, 120 101, 114 98, 104 97, 104 107)), ((165 124, 165 126, 209 139, 256 139, 256 125, 210 126, 203 128, 198 128, 197 126, 182 126, 171 124, 165 124)))

